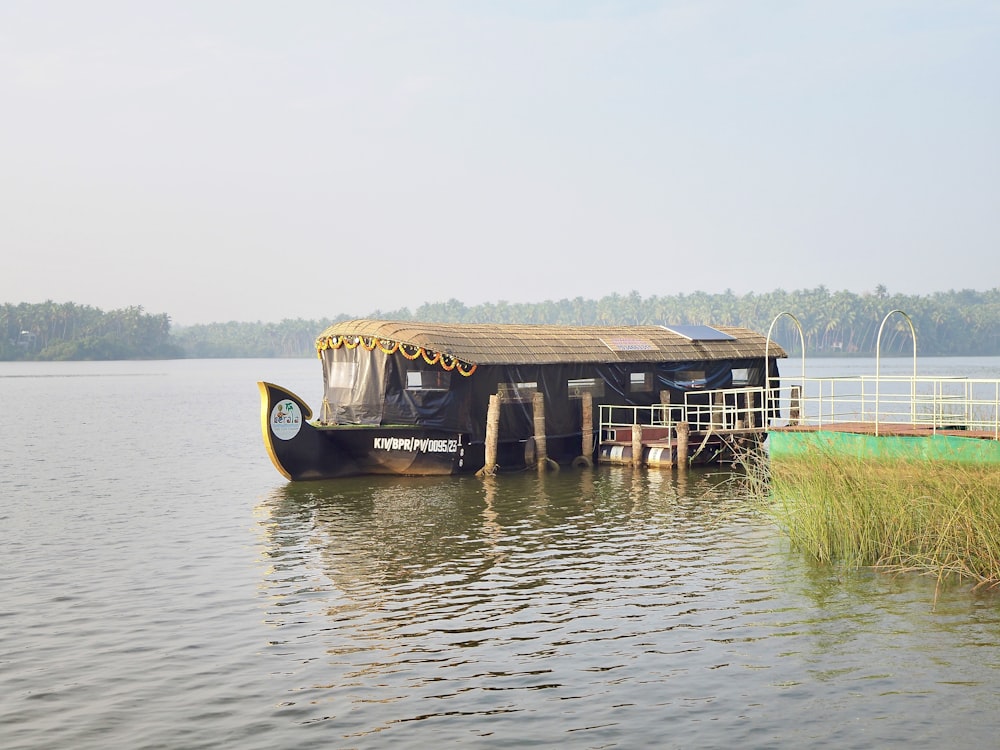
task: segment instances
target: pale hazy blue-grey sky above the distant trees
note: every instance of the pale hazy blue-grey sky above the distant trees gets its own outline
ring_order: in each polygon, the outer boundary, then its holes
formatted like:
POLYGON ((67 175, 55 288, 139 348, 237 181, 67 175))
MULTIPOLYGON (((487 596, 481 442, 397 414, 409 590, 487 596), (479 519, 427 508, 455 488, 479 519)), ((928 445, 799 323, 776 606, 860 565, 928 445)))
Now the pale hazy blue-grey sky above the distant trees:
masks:
POLYGON ((0 0, 0 302, 1000 285, 1000 3, 0 0))

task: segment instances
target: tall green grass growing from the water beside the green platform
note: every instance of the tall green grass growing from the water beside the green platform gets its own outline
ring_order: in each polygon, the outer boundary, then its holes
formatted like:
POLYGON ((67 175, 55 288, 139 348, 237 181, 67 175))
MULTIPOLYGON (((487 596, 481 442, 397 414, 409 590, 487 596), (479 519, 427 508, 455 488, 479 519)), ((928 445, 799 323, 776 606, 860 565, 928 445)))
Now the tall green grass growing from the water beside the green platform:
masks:
POLYGON ((1000 466, 819 451, 743 463, 751 497, 817 561, 1000 584, 1000 466))

